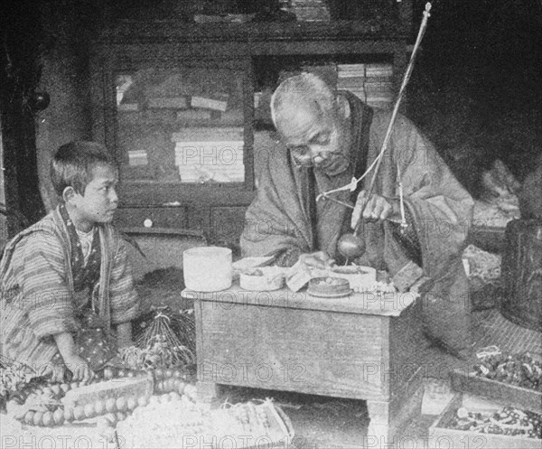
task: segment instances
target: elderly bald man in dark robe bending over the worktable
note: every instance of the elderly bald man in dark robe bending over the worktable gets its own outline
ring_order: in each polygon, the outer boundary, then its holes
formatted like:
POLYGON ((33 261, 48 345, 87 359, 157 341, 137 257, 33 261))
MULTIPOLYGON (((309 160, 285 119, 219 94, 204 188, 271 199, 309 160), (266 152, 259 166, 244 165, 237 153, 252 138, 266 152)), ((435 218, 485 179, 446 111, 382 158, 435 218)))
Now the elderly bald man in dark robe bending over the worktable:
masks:
POLYGON ((332 199, 320 201, 316 197, 365 173, 381 149, 390 114, 369 108, 350 92, 333 92, 308 73, 281 83, 271 111, 284 151, 270 154, 262 168, 241 237, 243 255, 274 255, 276 264, 286 267, 298 260, 328 267, 333 260, 342 261, 337 251, 341 236, 364 220, 360 237, 365 254, 358 262, 391 276, 419 267, 426 279, 425 331, 449 350, 468 356, 470 302, 461 254, 472 198, 433 145, 399 115, 361 211, 372 172, 354 192, 333 193, 332 199), (398 224, 401 218, 406 228, 398 224))

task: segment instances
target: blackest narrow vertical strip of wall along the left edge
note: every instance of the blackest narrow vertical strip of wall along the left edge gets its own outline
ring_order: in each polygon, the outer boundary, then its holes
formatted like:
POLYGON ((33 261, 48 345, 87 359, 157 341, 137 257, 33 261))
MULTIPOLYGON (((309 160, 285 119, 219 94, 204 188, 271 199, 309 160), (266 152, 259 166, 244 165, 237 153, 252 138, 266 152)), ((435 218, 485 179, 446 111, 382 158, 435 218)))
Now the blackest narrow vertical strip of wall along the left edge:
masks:
MULTIPOLYGON (((5 201, 29 221, 42 216, 34 129, 35 87, 40 78, 42 27, 30 2, 4 2, 0 14, 0 120, 5 166, 5 201)), ((22 227, 12 215, 8 230, 22 227)))

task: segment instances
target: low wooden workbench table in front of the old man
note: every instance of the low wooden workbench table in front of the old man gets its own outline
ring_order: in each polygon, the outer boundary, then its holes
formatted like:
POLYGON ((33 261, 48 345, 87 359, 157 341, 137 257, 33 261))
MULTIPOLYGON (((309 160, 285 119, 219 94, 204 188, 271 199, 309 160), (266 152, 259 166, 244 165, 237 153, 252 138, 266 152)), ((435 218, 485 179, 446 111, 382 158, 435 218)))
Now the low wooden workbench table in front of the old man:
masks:
POLYGON ((221 385, 364 399, 368 437, 382 447, 419 413, 420 302, 414 294, 320 298, 233 285, 182 296, 194 300, 201 401, 219 398, 221 385))

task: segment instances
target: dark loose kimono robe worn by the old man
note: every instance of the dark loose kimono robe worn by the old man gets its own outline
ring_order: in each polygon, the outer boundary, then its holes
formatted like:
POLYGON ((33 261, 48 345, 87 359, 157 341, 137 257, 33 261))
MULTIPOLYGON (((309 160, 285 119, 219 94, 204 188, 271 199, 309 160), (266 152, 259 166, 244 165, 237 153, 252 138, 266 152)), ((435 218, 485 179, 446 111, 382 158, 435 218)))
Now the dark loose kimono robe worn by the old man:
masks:
MULTIPOLYGON (((378 155, 391 114, 374 110, 369 129, 362 123, 364 106, 358 98, 344 93, 350 103, 353 145, 350 157, 366 158, 366 166, 378 155), (368 149, 362 142, 367 140, 368 149), (356 154, 366 152, 366 154, 356 154)), ((365 124, 367 125, 367 123, 365 124)), ((354 164, 345 173, 328 177, 314 171, 318 192, 348 184, 354 164)), ((434 146, 406 117, 397 116, 388 149, 380 165, 375 193, 398 197, 398 176, 410 219, 416 229, 421 265, 427 282, 422 290, 425 330, 450 350, 468 356, 471 349, 468 282, 462 253, 473 201, 453 177, 434 146)), ((363 181, 367 188, 372 172, 363 181)), ((249 206, 240 244, 243 256, 276 255, 285 251, 309 253, 326 251, 335 257, 337 241, 349 228, 351 210, 333 201, 318 201, 317 223, 311 226, 306 204, 306 169, 295 166, 285 148, 270 154, 258 179, 257 196, 249 206), (314 242, 318 242, 315 248, 314 242)), ((350 201, 350 192, 334 194, 350 201)), ((388 221, 368 226, 364 233, 365 263, 385 268, 394 276, 410 261, 406 248, 395 237, 397 225, 388 221)))

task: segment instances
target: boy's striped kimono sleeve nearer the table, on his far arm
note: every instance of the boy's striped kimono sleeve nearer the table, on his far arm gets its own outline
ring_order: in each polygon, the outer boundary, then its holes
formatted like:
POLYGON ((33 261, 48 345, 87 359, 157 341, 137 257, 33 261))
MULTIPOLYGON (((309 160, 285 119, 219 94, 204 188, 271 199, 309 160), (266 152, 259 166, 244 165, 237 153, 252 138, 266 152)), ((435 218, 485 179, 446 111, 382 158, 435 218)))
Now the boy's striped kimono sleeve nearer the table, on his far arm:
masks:
POLYGON ((109 284, 111 323, 127 323, 139 314, 139 298, 135 290, 132 269, 124 241, 120 242, 109 284))

